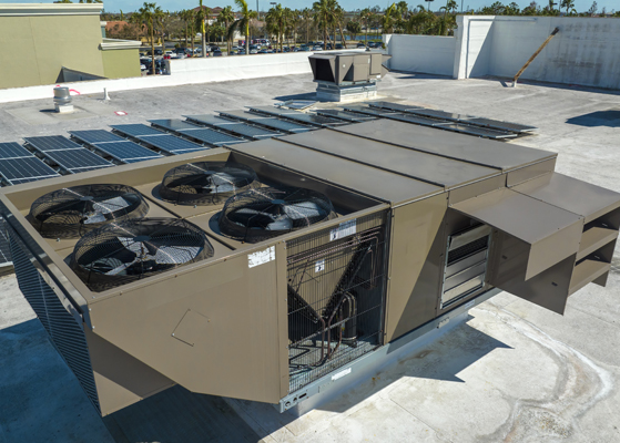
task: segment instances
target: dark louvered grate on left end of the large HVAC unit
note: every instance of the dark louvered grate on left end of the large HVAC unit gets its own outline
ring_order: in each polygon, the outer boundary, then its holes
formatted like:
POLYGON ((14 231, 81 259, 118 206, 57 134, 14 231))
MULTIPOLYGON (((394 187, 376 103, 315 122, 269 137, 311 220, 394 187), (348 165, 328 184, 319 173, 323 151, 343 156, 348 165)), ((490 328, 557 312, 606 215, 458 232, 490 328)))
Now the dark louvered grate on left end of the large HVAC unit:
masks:
POLYGON ((78 378, 87 396, 101 413, 84 331, 64 309, 18 241, 12 236, 9 238, 21 292, 45 328, 52 344, 78 378))

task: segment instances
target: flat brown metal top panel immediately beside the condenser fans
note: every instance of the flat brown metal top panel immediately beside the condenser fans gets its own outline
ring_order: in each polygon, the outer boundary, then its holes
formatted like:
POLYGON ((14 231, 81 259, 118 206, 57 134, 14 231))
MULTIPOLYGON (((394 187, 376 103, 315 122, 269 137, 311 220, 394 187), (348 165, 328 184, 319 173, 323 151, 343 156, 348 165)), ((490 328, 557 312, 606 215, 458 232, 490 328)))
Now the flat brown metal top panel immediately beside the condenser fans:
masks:
POLYGON ((232 150, 394 205, 444 193, 439 186, 279 140, 246 143, 232 150))

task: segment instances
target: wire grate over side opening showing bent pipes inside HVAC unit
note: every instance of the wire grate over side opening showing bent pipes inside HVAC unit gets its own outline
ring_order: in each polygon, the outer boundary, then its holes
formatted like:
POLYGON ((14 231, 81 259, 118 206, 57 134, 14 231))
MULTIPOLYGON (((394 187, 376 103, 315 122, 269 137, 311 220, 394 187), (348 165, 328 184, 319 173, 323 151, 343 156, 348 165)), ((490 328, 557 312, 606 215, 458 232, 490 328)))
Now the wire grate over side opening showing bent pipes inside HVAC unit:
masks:
POLYGON ((383 344, 386 214, 286 243, 289 392, 383 344))

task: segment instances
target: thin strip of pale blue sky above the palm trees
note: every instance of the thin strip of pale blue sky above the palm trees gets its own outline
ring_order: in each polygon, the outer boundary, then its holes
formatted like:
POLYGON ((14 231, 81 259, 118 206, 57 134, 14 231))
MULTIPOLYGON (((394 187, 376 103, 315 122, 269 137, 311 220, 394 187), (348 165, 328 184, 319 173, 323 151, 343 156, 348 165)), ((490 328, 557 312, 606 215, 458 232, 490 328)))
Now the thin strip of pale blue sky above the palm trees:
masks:
MULTIPOLYGON (((20 2, 20 3, 41 3, 41 1, 37 1, 37 0, 11 0, 14 2, 20 2)), ((73 0, 75 3, 79 0, 73 0)), ((164 11, 179 11, 182 9, 190 9, 190 8, 195 8, 199 6, 199 0, 149 0, 149 1, 155 1, 157 3, 157 6, 162 7, 162 9, 164 11)), ((389 0, 388 0, 389 1, 389 0)), ((356 10, 356 9, 364 9, 366 7, 374 7, 374 6, 380 6, 382 9, 385 9, 386 4, 392 4, 392 1, 385 1, 385 0, 338 0, 338 3, 347 11, 350 10, 356 10)), ((458 6, 459 6, 459 10, 460 10, 460 4, 461 4, 461 0, 456 0, 458 6)), ((478 9, 485 6, 490 6, 491 3, 494 3, 495 0, 463 0, 463 8, 464 9, 478 9)), ((512 0, 500 0, 504 4, 510 3, 512 0)), ((517 4, 519 4, 519 7, 525 8, 527 7, 531 0, 515 0, 517 4)), ((560 3, 561 0, 555 0, 556 2, 560 3)), ((0 0, 0 3, 4 2, 4 0, 0 0)), ((411 0, 411 1, 407 1, 409 3, 409 7, 413 9, 415 7, 417 7, 418 4, 423 4, 426 7, 427 3, 423 0, 411 0)), ((548 0, 537 0, 539 6, 546 6, 548 4, 548 0)), ((119 12, 121 9, 123 10, 123 12, 130 12, 130 11, 135 11, 138 10, 138 8, 140 8, 142 6, 142 3, 144 3, 144 0, 104 0, 103 1, 103 7, 104 10, 106 12, 119 12)), ((256 0, 247 0, 247 3, 250 6, 251 9, 255 10, 256 9, 256 0)), ((270 3, 271 0, 258 0, 258 8, 261 11, 266 11, 267 9, 270 9, 270 3)), ((313 0, 281 0, 279 3, 282 3, 283 7, 288 7, 291 9, 304 9, 304 8, 312 8, 312 3, 313 0)), ((431 3, 431 9, 433 10, 439 10, 440 7, 443 7, 445 4, 445 0, 435 0, 431 3)), ((215 7, 225 7, 225 6, 232 6, 233 9, 235 9, 234 7, 234 1, 233 0, 203 0, 203 4, 210 8, 215 8, 215 7)), ((575 0, 575 9, 577 9, 577 11, 581 12, 581 11, 587 11, 588 9, 590 9, 592 4, 592 0, 575 0)), ((602 10, 603 7, 607 8, 608 12, 611 12, 612 10, 620 10, 620 0, 597 0, 597 4, 598 4, 598 9, 599 12, 602 10)))

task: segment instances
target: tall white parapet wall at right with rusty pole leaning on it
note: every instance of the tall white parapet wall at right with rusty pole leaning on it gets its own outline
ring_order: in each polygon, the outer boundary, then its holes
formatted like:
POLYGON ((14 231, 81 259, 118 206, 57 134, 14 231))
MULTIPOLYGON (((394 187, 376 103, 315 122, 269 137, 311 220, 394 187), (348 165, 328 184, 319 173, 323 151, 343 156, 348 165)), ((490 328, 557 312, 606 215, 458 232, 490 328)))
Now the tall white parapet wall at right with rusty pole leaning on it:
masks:
POLYGON ((512 78, 558 27, 521 79, 620 89, 620 20, 459 16, 457 23, 457 79, 512 78))

